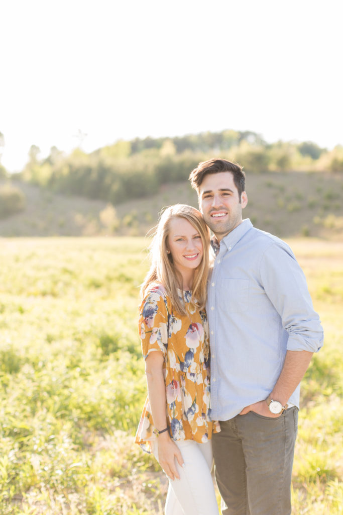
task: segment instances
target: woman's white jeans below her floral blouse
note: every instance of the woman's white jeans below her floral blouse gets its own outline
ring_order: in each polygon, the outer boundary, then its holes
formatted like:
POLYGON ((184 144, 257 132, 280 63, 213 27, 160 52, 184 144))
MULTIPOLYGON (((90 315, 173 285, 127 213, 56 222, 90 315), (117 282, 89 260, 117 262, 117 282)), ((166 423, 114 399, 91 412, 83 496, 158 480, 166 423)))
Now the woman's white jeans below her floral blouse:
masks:
MULTIPOLYGON (((180 467, 176 461, 179 479, 169 479, 165 515, 219 515, 215 499, 211 468, 212 442, 193 440, 175 441, 184 459, 180 467)), ((158 461, 157 442, 152 450, 158 461)))

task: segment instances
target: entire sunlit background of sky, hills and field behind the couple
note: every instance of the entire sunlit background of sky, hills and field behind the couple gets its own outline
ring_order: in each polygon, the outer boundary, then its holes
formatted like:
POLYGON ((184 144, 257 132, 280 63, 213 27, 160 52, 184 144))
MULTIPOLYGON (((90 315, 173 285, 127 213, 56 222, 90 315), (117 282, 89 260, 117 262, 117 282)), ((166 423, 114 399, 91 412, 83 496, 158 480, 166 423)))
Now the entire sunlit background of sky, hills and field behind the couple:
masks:
POLYGON ((163 515, 168 481, 133 444, 145 235, 197 205, 187 178, 213 156, 244 166, 243 216, 308 280, 325 343, 292 513, 342 515, 342 6, 0 2, 1 515, 163 515))

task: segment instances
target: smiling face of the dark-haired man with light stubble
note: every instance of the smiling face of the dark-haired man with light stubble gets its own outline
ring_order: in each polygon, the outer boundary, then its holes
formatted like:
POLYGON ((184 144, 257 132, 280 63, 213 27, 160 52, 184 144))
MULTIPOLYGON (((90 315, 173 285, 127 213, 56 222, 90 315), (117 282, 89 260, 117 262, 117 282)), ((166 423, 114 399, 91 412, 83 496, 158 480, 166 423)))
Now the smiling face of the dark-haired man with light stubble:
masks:
POLYGON ((247 201, 245 192, 239 198, 229 171, 207 174, 200 185, 200 211, 219 241, 242 222, 242 209, 247 201))

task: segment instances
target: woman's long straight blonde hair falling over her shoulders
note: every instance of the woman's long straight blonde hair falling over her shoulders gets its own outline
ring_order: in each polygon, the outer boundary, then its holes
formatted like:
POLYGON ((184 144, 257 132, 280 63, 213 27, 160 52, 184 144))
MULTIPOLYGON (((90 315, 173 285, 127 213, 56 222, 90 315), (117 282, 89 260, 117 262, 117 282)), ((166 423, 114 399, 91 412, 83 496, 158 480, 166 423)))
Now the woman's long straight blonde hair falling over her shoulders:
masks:
POLYGON ((194 270, 192 284, 192 302, 198 310, 205 307, 207 293, 207 276, 209 269, 210 231, 205 224, 202 214, 191 205, 175 204, 167 208, 160 216, 153 241, 149 247, 151 266, 143 281, 140 294, 144 298, 154 284, 162 284, 170 297, 174 309, 180 314, 186 314, 183 298, 180 299, 177 289, 183 288, 180 272, 175 268, 171 253, 167 253, 167 239, 170 232, 170 221, 174 218, 184 218, 200 234, 203 244, 203 259, 194 270))

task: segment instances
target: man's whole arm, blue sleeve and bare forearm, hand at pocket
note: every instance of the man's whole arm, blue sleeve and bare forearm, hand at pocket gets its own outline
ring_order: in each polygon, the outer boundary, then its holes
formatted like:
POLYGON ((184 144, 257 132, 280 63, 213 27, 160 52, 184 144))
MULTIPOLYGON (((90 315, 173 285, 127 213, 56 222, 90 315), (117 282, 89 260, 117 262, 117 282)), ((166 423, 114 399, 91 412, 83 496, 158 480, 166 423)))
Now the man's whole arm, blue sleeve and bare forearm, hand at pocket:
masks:
MULTIPOLYGON (((322 327, 313 309, 305 276, 292 250, 283 242, 271 245, 265 252, 260 263, 260 278, 288 333, 285 361, 279 379, 269 393, 271 399, 284 406, 308 369, 313 352, 322 346, 322 327)), ((248 411, 279 417, 270 413, 265 399, 246 406, 241 415, 248 411)))

